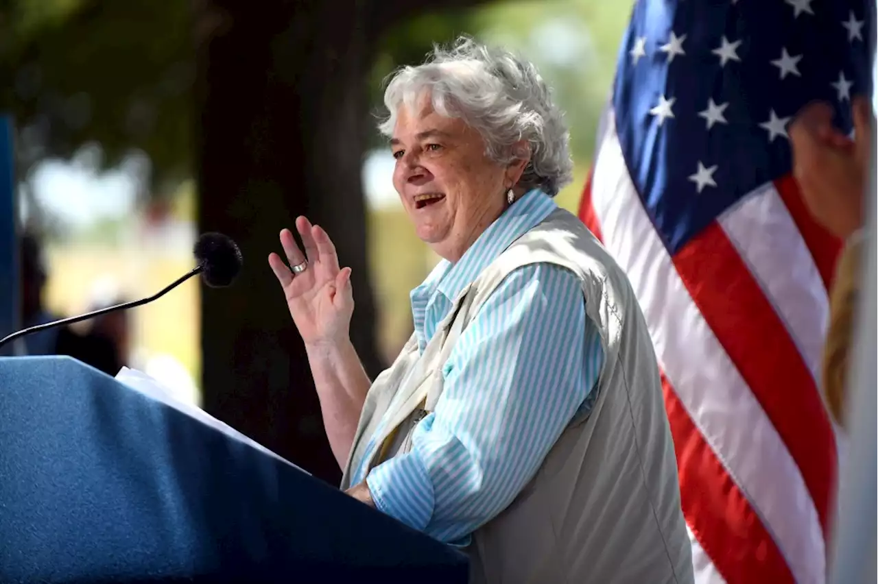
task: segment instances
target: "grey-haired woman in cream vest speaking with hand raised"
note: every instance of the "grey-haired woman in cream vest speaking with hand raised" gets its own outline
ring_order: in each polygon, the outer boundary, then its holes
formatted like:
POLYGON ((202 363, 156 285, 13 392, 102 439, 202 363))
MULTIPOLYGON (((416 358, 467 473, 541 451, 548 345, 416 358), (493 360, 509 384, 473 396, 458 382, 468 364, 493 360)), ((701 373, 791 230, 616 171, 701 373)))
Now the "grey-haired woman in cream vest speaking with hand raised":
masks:
POLYGON ((530 63, 461 39, 385 93, 393 184, 443 260, 370 381, 349 268, 299 217, 269 261, 342 488, 460 545, 473 582, 691 582, 659 367, 629 281, 552 196, 568 134, 530 63))

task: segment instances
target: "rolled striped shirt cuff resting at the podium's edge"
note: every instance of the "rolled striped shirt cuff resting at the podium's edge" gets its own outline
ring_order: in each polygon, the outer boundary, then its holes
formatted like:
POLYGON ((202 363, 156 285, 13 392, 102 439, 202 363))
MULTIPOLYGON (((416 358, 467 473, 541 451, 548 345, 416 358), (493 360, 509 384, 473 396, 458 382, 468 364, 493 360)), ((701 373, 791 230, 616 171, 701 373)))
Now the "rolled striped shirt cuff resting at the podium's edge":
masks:
POLYGON ((375 507, 409 527, 424 531, 433 516, 433 483, 421 459, 407 452, 376 466, 366 477, 375 507))

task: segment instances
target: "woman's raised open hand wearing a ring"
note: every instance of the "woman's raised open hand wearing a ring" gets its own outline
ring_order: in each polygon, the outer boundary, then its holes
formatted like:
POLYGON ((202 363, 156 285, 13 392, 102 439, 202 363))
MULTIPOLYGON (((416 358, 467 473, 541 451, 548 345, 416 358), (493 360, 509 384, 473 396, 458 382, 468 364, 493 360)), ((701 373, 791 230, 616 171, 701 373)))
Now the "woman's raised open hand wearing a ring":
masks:
POLYGON ((280 232, 280 244, 289 265, 305 269, 296 274, 277 253, 270 253, 269 265, 284 289, 292 321, 305 344, 335 344, 349 338, 354 312, 350 268, 339 268, 335 245, 320 226, 299 217, 296 229, 305 246, 304 254, 288 229, 280 232))

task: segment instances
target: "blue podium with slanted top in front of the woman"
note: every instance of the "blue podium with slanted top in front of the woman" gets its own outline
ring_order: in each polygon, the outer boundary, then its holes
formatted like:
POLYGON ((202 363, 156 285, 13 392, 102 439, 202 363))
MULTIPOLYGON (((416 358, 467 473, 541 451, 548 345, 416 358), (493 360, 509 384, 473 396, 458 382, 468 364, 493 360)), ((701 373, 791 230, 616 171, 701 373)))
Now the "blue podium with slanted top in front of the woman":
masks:
POLYGON ((456 549, 64 357, 0 359, 0 582, 443 582, 456 549))

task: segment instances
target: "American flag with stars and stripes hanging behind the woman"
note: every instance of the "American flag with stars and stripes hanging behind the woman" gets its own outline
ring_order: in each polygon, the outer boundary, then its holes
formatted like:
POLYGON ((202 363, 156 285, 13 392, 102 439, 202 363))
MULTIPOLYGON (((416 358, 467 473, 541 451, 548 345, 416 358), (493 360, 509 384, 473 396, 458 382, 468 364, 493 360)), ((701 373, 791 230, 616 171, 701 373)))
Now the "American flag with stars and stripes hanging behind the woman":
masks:
POLYGON ((665 389, 696 581, 824 582, 836 429, 818 393, 839 242, 786 125, 871 90, 874 4, 641 0, 580 217, 630 277, 665 389))

